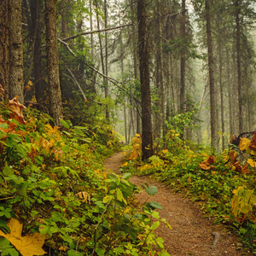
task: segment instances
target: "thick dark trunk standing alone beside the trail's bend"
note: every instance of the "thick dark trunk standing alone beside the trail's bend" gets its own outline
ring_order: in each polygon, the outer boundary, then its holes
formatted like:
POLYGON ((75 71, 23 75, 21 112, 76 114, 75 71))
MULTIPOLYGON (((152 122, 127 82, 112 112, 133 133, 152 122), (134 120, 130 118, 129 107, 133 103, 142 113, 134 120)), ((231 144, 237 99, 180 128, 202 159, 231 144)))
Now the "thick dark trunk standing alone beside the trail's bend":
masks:
POLYGON ((143 160, 153 155, 153 138, 151 123, 151 96, 149 81, 149 53, 147 44, 147 20, 146 20, 145 0, 137 1, 137 19, 138 19, 138 44, 139 44, 139 69, 142 93, 142 123, 143 140, 142 151, 143 160))

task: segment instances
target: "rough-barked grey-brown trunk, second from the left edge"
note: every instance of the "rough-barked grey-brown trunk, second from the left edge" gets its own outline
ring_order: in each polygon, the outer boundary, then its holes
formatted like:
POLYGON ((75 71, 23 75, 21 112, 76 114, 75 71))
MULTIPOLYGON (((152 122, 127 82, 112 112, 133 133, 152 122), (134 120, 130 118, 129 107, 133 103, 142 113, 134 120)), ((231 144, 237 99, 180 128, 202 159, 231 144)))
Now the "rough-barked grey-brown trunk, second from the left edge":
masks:
POLYGON ((23 41, 21 0, 9 0, 9 92, 10 98, 23 96, 23 41))

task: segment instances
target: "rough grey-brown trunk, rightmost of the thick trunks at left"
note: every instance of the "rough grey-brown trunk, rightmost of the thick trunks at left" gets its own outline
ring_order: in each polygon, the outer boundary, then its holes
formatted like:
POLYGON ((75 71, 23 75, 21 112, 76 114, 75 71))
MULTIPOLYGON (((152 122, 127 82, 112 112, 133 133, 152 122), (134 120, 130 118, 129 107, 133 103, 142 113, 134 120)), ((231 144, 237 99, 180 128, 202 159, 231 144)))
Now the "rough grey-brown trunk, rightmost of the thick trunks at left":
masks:
POLYGON ((63 108, 61 103, 61 85, 59 71, 59 56, 57 45, 56 0, 44 0, 46 24, 47 71, 49 84, 50 114, 55 125, 61 126, 63 108))

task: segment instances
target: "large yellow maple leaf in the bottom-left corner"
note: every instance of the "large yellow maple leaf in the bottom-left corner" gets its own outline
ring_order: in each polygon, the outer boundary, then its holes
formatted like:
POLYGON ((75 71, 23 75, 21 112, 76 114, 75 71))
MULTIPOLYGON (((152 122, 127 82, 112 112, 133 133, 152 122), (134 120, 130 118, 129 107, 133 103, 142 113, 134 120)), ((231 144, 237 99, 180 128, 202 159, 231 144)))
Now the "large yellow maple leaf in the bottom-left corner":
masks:
POLYGON ((21 236, 22 224, 15 218, 10 218, 7 225, 9 226, 10 233, 4 234, 3 231, 0 230, 0 236, 8 239, 23 256, 45 254, 42 247, 46 235, 41 236, 40 233, 34 233, 21 236))

